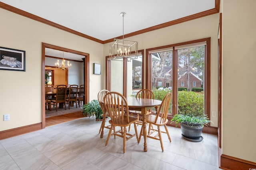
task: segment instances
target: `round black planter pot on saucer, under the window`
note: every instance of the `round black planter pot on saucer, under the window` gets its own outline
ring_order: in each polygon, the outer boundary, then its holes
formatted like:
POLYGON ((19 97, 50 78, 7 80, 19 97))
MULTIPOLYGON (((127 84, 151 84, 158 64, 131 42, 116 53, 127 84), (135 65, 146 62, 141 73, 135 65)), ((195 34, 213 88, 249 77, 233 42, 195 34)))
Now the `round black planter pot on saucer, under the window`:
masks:
POLYGON ((201 136, 203 127, 198 123, 194 123, 193 125, 193 123, 183 122, 180 123, 180 129, 182 137, 188 141, 200 142, 204 139, 201 136))

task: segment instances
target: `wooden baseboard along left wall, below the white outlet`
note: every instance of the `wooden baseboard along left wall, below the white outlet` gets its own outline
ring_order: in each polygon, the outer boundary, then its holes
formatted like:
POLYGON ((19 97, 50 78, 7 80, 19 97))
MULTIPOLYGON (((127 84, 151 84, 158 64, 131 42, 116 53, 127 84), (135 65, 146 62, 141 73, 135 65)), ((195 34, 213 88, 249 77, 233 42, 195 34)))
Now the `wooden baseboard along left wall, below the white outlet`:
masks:
POLYGON ((8 129, 6 131, 0 131, 0 140, 14 137, 17 135, 22 135, 22 134, 29 133, 32 131, 38 131, 40 129, 42 129, 42 123, 36 123, 36 124, 32 124, 32 125, 17 127, 14 129, 8 129))

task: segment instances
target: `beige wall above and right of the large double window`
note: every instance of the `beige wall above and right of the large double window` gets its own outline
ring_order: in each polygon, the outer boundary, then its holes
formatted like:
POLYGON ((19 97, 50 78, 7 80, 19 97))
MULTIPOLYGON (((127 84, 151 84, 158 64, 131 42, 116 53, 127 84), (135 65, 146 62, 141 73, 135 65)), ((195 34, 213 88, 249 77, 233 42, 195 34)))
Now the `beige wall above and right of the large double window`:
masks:
MULTIPOLYGON (((127 40, 138 41, 140 50, 211 37, 211 111, 218 113, 218 25, 219 14, 214 14, 129 37, 127 40)), ((109 43, 104 45, 104 55, 109 55, 109 43)), ((211 120, 214 122, 211 125, 217 127, 218 117, 211 117, 211 120)))

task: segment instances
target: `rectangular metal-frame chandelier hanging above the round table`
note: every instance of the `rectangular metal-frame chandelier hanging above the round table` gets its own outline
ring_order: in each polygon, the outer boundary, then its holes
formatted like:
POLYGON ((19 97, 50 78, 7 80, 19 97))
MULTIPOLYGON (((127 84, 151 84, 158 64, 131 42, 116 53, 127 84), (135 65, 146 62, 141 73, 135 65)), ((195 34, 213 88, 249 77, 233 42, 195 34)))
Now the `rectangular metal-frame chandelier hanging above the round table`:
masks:
POLYGON ((131 61, 138 58, 138 42, 124 40, 124 16, 126 13, 121 12, 120 15, 123 17, 123 39, 114 39, 114 43, 110 44, 109 56, 110 60, 131 61))

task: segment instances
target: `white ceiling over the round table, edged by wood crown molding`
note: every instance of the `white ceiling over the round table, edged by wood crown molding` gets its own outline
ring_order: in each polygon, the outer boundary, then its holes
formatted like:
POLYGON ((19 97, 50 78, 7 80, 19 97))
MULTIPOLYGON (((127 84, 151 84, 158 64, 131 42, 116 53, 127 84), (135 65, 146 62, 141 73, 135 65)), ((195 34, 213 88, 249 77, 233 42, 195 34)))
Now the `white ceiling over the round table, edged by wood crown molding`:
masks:
POLYGON ((0 0, 101 41, 215 8, 216 0, 0 0))

